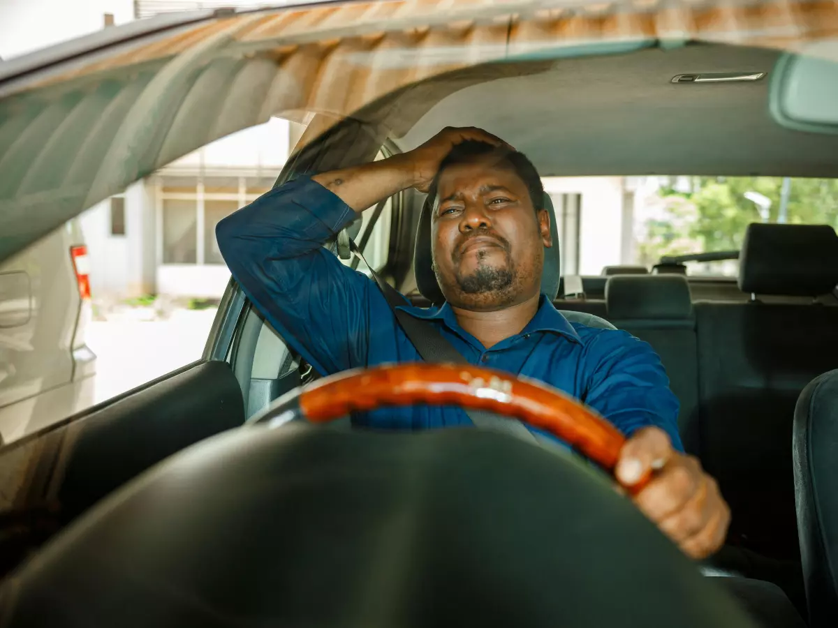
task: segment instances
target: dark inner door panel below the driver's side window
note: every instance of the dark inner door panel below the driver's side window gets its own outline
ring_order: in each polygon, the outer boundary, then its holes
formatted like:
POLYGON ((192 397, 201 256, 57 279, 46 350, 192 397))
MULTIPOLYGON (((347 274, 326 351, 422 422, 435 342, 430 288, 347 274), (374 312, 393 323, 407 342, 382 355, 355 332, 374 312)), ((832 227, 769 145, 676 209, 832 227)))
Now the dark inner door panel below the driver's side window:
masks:
MULTIPOLYGON (((230 291, 235 297, 235 291, 230 291)), ((241 302, 227 308, 242 311, 241 302)), ((198 361, 0 450, 0 569, 159 461, 245 420, 224 320, 198 361), (226 350, 223 347, 228 347, 226 350)))

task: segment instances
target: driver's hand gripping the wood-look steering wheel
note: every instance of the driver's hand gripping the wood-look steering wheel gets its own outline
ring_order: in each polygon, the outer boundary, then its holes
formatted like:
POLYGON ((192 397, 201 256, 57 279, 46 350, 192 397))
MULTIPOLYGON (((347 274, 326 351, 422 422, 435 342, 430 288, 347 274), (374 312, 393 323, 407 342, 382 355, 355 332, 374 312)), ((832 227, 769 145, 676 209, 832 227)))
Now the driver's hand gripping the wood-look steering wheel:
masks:
POLYGON ((694 559, 722 547, 731 514, 719 486, 695 456, 673 450, 670 437, 656 427, 626 441, 615 470, 626 487, 649 473, 649 483, 633 497, 640 510, 694 559))

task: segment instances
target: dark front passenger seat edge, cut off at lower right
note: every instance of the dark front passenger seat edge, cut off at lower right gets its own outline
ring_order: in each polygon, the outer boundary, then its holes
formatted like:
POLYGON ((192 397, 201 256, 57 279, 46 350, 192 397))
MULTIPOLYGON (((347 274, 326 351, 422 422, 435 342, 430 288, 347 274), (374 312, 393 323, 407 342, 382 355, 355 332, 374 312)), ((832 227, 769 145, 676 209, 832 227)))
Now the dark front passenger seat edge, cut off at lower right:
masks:
POLYGON ((794 410, 794 492, 811 628, 838 625, 838 370, 794 410))

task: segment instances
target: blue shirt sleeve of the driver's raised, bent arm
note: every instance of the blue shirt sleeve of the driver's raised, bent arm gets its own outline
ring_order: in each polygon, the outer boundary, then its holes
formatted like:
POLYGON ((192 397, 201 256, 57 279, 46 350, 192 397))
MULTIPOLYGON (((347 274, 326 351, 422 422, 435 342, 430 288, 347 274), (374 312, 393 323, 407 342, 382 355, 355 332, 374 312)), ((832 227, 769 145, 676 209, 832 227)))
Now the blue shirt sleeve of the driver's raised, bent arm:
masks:
POLYGON ((355 218, 337 195, 301 177, 215 229, 221 255, 246 296, 324 375, 366 366, 370 322, 391 318, 371 280, 323 248, 355 218))

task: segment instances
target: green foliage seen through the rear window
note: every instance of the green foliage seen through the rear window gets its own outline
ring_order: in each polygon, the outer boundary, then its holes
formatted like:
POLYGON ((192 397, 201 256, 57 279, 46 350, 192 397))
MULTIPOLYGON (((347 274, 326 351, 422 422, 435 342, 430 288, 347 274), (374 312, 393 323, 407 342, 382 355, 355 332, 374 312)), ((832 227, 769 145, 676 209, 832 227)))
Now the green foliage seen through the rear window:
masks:
MULTIPOLYGON (((738 250, 748 224, 762 222, 759 209, 745 198, 757 192, 771 200, 768 222, 777 222, 783 178, 693 177, 687 192, 673 185, 660 188, 664 219, 646 223, 639 245, 641 262, 654 264, 661 255, 738 250)), ((791 180, 786 222, 830 224, 838 229, 838 180, 791 180)))

